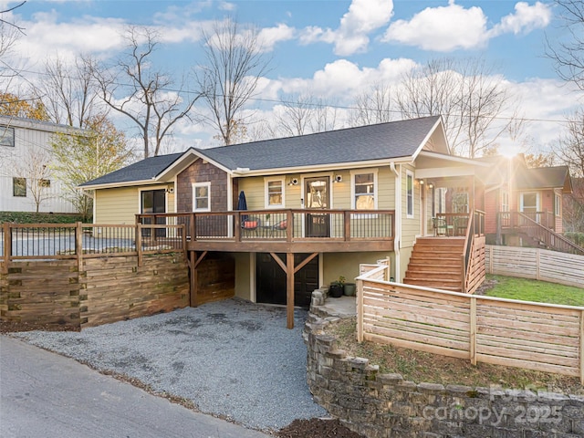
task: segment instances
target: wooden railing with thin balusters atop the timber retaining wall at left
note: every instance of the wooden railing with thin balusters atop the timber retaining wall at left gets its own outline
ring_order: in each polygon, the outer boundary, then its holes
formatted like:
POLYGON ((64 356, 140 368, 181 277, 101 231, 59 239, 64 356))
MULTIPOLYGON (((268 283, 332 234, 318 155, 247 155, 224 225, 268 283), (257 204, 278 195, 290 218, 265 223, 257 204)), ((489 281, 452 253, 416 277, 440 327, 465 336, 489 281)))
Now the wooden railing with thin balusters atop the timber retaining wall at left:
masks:
POLYGON ((104 255, 186 252, 183 224, 13 224, 0 228, 0 267, 18 260, 77 259, 104 255))

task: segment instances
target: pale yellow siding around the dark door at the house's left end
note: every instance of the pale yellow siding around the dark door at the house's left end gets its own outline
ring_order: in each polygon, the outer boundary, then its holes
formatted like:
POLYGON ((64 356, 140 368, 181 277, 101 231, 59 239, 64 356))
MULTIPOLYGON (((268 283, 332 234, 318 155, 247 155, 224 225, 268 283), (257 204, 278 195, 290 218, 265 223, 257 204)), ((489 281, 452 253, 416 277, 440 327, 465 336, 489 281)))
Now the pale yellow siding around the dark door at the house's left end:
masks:
MULTIPOLYGON (((140 211, 140 190, 159 190, 163 186, 121 187, 96 191, 94 224, 134 224, 140 211)), ((166 193, 167 213, 174 213, 174 193, 166 193)))

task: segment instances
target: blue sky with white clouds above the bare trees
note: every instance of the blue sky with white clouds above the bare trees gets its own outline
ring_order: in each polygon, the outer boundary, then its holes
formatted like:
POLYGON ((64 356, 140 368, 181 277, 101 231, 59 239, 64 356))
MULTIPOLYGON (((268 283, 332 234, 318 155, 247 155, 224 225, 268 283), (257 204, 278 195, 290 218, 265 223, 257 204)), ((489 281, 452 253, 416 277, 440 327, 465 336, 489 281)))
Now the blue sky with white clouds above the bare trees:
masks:
MULTIPOLYGON (((177 73, 189 71, 201 59, 200 29, 235 16, 258 27, 272 57, 258 98, 310 92, 342 108, 371 83, 396 82, 430 59, 482 57, 521 102, 524 117, 544 120, 528 125, 529 144, 543 150, 564 127, 554 120, 579 104, 579 93, 558 80, 545 57, 545 38, 566 36, 557 12, 551 2, 506 0, 28 0, 13 18, 26 27, 18 53, 27 80, 35 82, 44 60, 57 53, 116 57, 123 48, 120 31, 129 24, 156 27, 162 35, 157 61, 177 73)), ((263 120, 276 108, 266 100, 250 103, 263 120)), ((342 120, 346 110, 339 111, 342 120)), ((119 123, 123 128, 124 120, 119 123)), ((213 135, 210 127, 181 124, 174 148, 208 146, 213 135)))

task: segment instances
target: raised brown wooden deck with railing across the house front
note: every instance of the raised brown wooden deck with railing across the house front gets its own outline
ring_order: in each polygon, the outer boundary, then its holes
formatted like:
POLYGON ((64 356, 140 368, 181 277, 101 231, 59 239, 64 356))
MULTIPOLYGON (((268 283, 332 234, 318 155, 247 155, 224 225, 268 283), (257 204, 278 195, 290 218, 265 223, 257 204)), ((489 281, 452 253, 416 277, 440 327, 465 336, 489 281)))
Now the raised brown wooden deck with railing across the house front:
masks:
POLYGON ((395 224, 393 210, 137 214, 136 220, 184 224, 189 251, 291 254, 392 251, 395 224))

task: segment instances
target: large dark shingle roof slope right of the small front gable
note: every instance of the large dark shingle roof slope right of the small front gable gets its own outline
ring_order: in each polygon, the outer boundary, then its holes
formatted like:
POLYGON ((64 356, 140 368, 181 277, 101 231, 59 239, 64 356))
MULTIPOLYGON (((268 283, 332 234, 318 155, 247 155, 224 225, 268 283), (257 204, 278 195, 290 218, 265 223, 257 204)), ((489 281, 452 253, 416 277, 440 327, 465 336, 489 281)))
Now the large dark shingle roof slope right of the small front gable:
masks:
POLYGON ((440 116, 391 121, 196 151, 227 169, 252 171, 408 157, 438 120, 440 116))

